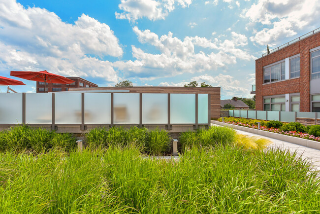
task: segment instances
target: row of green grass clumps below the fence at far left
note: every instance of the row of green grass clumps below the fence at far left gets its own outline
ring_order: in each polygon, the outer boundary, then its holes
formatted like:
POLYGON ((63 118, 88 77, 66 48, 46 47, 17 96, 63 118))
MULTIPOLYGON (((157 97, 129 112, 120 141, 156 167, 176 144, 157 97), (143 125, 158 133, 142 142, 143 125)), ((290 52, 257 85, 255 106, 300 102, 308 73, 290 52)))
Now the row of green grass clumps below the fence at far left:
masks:
POLYGON ((47 152, 52 148, 70 151, 77 146, 76 139, 69 133, 56 133, 43 128, 15 126, 0 132, 0 151, 16 150, 47 152))

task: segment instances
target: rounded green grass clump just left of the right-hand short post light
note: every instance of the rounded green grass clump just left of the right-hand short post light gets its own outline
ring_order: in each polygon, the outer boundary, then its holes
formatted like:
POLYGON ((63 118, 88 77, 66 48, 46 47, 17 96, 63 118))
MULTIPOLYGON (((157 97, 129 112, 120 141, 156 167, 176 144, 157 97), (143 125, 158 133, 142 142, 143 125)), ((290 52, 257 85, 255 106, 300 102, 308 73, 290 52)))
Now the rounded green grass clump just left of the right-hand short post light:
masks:
POLYGON ((170 151, 171 138, 163 129, 149 132, 145 143, 145 151, 151 155, 162 155, 170 151))

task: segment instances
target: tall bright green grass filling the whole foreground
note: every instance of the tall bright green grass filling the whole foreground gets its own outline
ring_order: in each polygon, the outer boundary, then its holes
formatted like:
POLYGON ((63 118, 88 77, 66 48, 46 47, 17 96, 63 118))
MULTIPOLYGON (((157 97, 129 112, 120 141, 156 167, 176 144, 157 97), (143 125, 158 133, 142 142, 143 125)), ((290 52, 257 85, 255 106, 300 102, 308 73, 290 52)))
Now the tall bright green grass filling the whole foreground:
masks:
POLYGON ((179 161, 132 146, 34 158, 0 153, 0 213, 319 213, 320 181, 295 153, 217 144, 179 161))

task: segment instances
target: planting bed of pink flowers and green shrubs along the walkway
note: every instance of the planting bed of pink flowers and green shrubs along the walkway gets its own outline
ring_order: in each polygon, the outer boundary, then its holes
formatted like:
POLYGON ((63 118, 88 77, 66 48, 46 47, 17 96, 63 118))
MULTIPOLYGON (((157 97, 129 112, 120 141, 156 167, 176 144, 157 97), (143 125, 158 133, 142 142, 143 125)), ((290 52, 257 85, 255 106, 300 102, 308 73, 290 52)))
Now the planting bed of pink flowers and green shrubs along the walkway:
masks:
MULTIPOLYGON (((218 121, 222 122, 222 118, 219 118, 218 121)), ((224 123, 229 123, 232 125, 244 126, 248 128, 257 129, 257 122, 261 123, 260 129, 267 132, 274 132, 282 135, 288 135, 297 138, 308 139, 312 141, 320 142, 320 125, 312 125, 305 127, 301 123, 291 122, 291 123, 282 123, 279 121, 264 121, 264 120, 255 120, 255 119, 245 119, 245 118, 234 118, 234 117, 224 117, 224 123), (276 122, 281 123, 279 128, 274 128, 269 124, 275 124, 276 122)))

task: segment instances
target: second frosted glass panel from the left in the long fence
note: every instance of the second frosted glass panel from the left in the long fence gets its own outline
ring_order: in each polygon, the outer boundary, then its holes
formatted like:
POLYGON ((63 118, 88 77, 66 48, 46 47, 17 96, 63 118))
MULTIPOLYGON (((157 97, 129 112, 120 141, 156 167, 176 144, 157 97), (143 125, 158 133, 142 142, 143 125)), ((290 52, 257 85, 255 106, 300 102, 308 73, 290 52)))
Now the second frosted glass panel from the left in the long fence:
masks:
POLYGON ((26 93, 26 123, 52 123, 52 93, 26 93))

